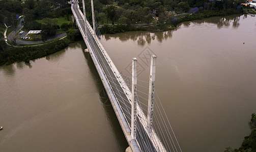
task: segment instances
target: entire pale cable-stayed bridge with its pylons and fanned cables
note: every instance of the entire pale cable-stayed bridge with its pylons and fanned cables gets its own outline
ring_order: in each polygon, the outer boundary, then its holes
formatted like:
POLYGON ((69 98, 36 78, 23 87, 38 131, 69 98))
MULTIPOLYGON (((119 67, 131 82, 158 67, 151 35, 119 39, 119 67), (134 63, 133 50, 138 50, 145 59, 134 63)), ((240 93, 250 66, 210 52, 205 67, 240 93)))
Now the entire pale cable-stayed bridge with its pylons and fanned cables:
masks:
POLYGON ((151 56, 149 83, 137 79, 136 58, 132 59, 132 77, 129 77, 131 81, 125 81, 123 78, 128 76, 118 71, 99 41, 97 35, 100 32, 94 17, 93 0, 91 0, 91 6, 93 27, 86 18, 84 1, 82 1, 83 12, 76 0, 72 0, 71 9, 130 149, 132 151, 182 151, 156 93, 156 56, 151 56), (139 85, 137 82, 144 85, 139 85), (148 89, 149 92, 138 90, 140 87, 148 89))

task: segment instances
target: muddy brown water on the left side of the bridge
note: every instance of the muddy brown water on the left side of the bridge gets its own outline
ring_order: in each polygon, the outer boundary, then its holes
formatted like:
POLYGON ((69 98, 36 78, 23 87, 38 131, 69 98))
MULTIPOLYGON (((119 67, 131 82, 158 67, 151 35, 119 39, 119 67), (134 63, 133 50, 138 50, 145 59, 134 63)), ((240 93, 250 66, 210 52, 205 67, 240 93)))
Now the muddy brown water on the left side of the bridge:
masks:
POLYGON ((83 41, 0 67, 0 151, 124 151, 128 146, 83 41))

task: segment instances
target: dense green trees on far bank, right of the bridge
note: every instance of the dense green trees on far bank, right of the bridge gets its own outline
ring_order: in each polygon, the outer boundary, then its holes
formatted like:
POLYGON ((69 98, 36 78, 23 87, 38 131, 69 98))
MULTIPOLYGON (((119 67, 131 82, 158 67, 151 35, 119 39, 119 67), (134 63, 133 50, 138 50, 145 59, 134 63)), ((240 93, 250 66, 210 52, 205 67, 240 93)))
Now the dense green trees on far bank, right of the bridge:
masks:
MULTIPOLYGON (((92 20, 91 1, 86 1, 87 18, 92 20)), ((226 12, 240 10, 245 0, 95 0, 95 17, 99 24, 157 23, 177 14, 198 8, 201 12, 226 12), (160 18, 160 20, 159 20, 160 18)), ((82 3, 79 3, 82 8, 82 3)))

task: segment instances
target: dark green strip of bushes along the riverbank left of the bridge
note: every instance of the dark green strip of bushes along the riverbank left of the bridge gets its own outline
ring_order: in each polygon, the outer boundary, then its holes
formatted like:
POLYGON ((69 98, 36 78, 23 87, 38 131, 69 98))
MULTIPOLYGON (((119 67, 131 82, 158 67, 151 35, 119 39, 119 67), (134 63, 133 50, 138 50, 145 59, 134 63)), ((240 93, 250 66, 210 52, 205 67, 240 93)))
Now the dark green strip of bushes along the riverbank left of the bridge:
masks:
POLYGON ((13 47, 5 49, 4 51, 0 51, 0 66, 20 61, 29 62, 30 60, 50 55, 66 48, 70 42, 70 40, 65 38, 36 47, 13 47))

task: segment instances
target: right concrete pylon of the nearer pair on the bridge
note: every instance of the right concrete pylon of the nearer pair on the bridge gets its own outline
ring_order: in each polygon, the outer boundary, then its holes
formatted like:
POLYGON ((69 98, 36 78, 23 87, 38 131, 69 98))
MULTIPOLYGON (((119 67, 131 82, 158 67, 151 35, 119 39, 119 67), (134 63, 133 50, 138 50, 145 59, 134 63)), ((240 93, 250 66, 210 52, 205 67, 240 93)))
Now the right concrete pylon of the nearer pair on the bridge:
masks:
POLYGON ((149 99, 148 99, 148 116, 147 116, 147 129, 150 135, 152 134, 152 126, 153 126, 155 75, 156 75, 156 56, 152 55, 151 63, 150 63, 149 99))

